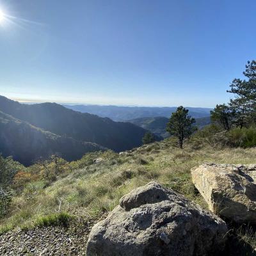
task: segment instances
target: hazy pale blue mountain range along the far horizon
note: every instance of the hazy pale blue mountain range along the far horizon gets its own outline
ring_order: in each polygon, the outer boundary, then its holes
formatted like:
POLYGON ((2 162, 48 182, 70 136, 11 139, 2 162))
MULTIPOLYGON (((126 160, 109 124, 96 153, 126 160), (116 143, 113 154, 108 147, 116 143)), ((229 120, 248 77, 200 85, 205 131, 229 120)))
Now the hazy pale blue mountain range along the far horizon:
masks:
MULTIPOLYGON (((126 121, 143 117, 164 116, 170 118, 176 107, 126 107, 126 106, 99 106, 99 105, 64 105, 66 108, 73 109, 82 113, 108 117, 115 121, 126 121)), ((210 108, 190 108, 189 115, 200 118, 210 115, 210 108)))

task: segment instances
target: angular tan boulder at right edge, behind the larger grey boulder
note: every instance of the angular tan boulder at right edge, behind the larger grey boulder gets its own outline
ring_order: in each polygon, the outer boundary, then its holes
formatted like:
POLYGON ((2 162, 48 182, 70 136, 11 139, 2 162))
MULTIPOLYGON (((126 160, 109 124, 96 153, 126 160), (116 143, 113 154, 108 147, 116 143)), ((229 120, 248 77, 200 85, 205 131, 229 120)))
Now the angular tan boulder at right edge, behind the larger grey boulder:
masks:
POLYGON ((256 165, 202 164, 191 170, 212 212, 237 223, 256 223, 256 165))

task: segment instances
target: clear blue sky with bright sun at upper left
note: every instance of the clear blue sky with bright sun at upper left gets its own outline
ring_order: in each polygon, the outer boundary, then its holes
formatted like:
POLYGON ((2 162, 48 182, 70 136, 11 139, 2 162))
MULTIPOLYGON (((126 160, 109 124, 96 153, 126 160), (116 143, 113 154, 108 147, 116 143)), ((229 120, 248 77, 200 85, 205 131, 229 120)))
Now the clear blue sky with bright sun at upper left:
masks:
POLYGON ((256 58, 255 0, 0 0, 0 10, 0 95, 21 102, 212 108, 256 58))

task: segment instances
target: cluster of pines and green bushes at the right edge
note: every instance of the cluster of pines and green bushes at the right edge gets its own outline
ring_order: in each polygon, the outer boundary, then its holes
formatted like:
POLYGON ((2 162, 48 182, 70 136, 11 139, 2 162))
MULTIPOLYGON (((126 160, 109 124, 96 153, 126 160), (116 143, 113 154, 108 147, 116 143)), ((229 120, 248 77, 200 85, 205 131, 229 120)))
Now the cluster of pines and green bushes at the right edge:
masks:
POLYGON ((230 147, 256 146, 256 61, 248 61, 243 74, 246 78, 234 79, 227 91, 235 97, 211 111, 211 120, 219 127, 209 140, 230 147))

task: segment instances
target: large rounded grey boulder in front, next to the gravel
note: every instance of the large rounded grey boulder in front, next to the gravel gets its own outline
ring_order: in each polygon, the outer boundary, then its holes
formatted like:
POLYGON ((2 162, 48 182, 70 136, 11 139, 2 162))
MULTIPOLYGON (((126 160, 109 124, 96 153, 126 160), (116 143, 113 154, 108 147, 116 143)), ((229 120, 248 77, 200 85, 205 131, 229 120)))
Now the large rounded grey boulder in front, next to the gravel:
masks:
POLYGON ((87 256, 218 255, 227 226, 156 182, 123 196, 90 233, 87 256))

